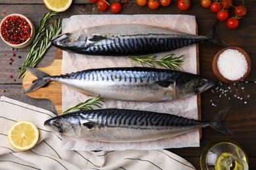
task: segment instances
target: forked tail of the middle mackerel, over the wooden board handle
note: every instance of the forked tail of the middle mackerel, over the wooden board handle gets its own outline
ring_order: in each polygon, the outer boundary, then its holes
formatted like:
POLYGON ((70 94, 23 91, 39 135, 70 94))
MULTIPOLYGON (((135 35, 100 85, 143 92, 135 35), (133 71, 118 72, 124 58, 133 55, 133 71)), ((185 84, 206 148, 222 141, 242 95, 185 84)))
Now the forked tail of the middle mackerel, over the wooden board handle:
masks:
POLYGON ((43 78, 49 76, 46 73, 44 73, 43 71, 40 71, 39 69, 35 69, 33 67, 28 67, 28 66, 24 66, 25 69, 27 69, 28 71, 30 71, 33 75, 35 75, 37 77, 37 80, 35 80, 35 82, 33 82, 33 84, 28 88, 28 90, 26 90, 25 93, 31 93, 39 88, 41 88, 42 86, 45 86, 46 84, 48 84, 51 80, 44 80, 43 78))

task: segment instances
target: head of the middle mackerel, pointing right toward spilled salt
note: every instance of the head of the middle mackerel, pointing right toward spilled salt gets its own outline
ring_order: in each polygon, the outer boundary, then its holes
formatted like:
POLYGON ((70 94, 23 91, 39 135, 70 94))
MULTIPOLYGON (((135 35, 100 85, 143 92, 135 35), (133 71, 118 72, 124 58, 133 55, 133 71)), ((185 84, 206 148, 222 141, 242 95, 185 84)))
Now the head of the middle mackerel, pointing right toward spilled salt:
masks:
POLYGON ((202 78, 198 75, 183 75, 177 80, 177 91, 179 97, 190 97, 198 93, 205 92, 209 88, 213 87, 215 82, 207 78, 202 78))

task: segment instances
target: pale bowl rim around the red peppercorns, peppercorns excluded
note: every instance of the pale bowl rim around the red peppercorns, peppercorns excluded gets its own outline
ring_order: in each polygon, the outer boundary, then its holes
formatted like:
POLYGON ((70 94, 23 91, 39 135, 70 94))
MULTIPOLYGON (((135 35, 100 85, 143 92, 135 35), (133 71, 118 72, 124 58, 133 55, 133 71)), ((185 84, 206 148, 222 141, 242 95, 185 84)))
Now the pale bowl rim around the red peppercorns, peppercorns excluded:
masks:
POLYGON ((20 44, 11 44, 11 43, 5 41, 5 39, 3 39, 2 34, 0 33, 1 39, 2 39, 6 44, 8 44, 9 46, 11 46, 11 47, 13 47, 13 48, 24 48, 24 47, 30 45, 30 44, 32 43, 33 39, 35 38, 35 27, 33 26, 33 23, 30 22, 30 20, 28 20, 28 18, 26 18, 26 16, 24 16, 24 15, 22 15, 22 14, 10 14, 10 15, 6 16, 5 18, 3 18, 3 20, 2 20, 2 22, 1 22, 1 24, 0 24, 0 29, 1 29, 1 27, 2 27, 3 22, 5 22, 6 18, 9 17, 9 16, 20 16, 20 18, 24 18, 24 19, 28 22, 28 24, 30 24, 30 27, 31 27, 30 37, 29 37, 25 42, 22 42, 22 43, 20 43, 20 44))

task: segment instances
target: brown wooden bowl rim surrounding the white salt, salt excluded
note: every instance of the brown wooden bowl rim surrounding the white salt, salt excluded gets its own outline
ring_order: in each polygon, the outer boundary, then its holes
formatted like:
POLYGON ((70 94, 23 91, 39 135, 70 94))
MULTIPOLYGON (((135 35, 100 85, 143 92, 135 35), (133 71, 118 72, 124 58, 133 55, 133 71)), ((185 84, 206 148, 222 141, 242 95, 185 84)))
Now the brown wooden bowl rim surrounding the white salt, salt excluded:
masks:
POLYGON ((240 82, 241 80, 244 80, 249 75, 249 72, 251 71, 251 59, 249 58, 249 55, 242 48, 239 48, 239 47, 236 47, 236 46, 229 46, 229 47, 224 48, 223 50, 220 50, 215 55, 215 57, 213 58, 213 62, 212 62, 212 69, 213 69, 214 75, 219 80, 221 80, 222 82, 226 82, 228 84, 232 84, 232 83, 235 83, 235 82, 240 82), (239 78, 238 80, 229 80, 229 79, 225 78, 223 75, 221 75, 221 73, 219 72, 219 69, 217 67, 217 60, 219 59, 219 56, 221 55, 221 53, 224 52, 224 50, 228 50, 228 49, 238 50, 239 52, 244 54, 245 59, 247 61, 247 65, 248 65, 247 71, 246 71, 245 75, 242 76, 241 78, 239 78))

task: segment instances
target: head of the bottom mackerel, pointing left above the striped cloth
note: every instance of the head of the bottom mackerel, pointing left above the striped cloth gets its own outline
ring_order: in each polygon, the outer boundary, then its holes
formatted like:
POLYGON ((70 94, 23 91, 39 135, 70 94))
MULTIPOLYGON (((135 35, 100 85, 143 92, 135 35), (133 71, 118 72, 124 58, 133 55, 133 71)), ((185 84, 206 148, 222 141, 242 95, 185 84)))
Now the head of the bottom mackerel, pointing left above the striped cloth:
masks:
MULTIPOLYGON (((49 120, 46 120, 44 125, 49 129, 56 131, 62 135, 75 136, 77 121, 74 118, 64 116, 56 116, 49 120)), ((78 123, 79 124, 79 123, 78 123)))

